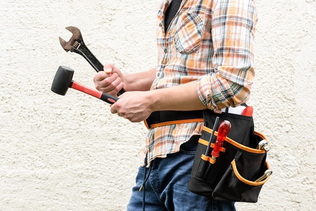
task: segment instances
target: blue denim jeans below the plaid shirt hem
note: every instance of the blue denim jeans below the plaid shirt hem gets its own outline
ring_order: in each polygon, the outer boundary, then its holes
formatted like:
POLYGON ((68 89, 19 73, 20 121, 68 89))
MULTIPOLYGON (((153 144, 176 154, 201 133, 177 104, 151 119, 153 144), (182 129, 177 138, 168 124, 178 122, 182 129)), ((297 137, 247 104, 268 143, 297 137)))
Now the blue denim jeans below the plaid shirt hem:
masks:
MULTIPOLYGON (((146 174, 149 179, 145 183, 145 210, 236 210, 235 202, 219 201, 197 195, 188 190, 197 137, 181 145, 177 153, 166 158, 157 158, 151 163, 151 170, 146 174)), ((140 167, 136 176, 136 186, 127 205, 128 211, 142 210, 143 190, 139 191, 144 180, 144 167, 140 167)))

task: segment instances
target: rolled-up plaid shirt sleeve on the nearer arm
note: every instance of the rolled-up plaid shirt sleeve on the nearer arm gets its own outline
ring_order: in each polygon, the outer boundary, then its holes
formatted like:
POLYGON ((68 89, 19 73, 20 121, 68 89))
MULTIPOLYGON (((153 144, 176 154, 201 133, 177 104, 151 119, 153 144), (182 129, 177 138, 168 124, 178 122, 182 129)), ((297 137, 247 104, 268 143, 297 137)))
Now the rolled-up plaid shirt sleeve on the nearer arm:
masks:
POLYGON ((250 0, 219 1, 212 18, 212 73, 196 82, 200 100, 220 112, 250 96, 254 78, 253 38, 257 10, 250 0))

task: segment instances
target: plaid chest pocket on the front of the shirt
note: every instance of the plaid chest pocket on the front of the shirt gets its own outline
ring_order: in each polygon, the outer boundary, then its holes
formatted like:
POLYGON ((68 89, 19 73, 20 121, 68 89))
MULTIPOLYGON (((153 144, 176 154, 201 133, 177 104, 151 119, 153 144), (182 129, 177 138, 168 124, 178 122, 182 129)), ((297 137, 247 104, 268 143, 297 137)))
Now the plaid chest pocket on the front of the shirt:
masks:
POLYGON ((181 54, 191 54, 199 50, 204 29, 204 17, 205 15, 192 13, 181 15, 174 36, 175 48, 181 54))

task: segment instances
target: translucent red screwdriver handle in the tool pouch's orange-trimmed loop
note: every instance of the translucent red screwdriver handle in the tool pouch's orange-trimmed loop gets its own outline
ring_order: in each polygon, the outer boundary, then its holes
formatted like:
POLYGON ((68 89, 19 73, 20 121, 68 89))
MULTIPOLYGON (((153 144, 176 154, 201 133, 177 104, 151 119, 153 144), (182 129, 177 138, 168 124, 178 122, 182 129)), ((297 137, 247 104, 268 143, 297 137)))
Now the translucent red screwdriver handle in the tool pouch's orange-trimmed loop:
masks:
POLYGON ((217 140, 214 144, 213 151, 211 152, 213 160, 216 160, 216 158, 220 155, 224 140, 231 128, 232 125, 228 120, 224 120, 223 122, 221 122, 219 130, 217 132, 217 140))

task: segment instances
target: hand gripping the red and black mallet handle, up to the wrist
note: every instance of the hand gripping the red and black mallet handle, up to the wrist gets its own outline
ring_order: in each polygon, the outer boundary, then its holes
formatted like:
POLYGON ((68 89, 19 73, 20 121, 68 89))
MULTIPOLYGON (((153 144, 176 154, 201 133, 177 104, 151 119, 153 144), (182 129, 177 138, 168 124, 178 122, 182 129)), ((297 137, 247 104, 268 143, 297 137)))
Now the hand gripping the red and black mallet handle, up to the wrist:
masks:
POLYGON ((120 95, 120 99, 111 105, 111 113, 118 114, 131 122, 141 122, 152 113, 150 91, 129 91, 120 95))

